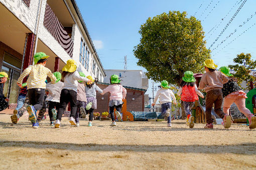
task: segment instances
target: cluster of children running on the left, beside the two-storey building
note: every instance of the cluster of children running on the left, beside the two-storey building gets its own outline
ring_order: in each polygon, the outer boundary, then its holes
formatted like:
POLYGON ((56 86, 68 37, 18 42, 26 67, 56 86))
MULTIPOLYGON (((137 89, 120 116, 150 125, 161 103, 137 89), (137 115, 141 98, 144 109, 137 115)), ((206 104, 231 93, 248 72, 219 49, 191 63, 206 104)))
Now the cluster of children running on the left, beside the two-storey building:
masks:
MULTIPOLYGON (((21 87, 21 92, 18 96, 17 108, 11 116, 12 122, 17 123, 19 117, 27 110, 33 128, 38 128, 39 121, 45 119, 41 113, 44 113, 45 107, 48 107, 50 125, 59 128, 62 115, 68 102, 70 102, 69 122, 71 125, 79 126, 79 113, 83 117, 88 113, 88 126, 92 126, 93 110, 97 108, 96 91, 98 91, 101 94, 110 93, 109 112, 112 119, 110 125, 115 126, 114 108, 117 110, 115 112, 117 118, 120 119, 122 99, 126 96, 126 89, 119 83, 118 76, 112 75, 111 84, 101 90, 96 85, 96 79, 76 70, 75 60, 67 60, 67 64, 62 68, 62 73, 58 71, 52 73, 50 69, 45 67, 48 57, 44 52, 37 52, 34 55, 35 64, 30 65, 20 75, 17 84, 21 87), (26 83, 22 83, 26 76, 26 83), (46 81, 47 76, 51 78, 49 83, 46 81), (40 111, 37 116, 38 110, 40 111)), ((5 72, 0 72, 0 78, 0 100, 3 103, 0 108, 3 110, 8 107, 8 98, 3 94, 4 83, 8 75, 5 72)))

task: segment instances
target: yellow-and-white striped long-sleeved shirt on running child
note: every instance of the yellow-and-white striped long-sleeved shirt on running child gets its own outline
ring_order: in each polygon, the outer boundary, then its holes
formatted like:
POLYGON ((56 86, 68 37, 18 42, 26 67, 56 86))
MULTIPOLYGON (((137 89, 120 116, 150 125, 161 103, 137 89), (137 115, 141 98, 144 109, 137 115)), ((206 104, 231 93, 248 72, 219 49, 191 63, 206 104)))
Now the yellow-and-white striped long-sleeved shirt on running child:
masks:
POLYGON ((42 64, 30 65, 28 66, 23 73, 20 75, 18 79, 18 83, 22 83, 23 79, 29 74, 29 78, 27 80, 28 89, 31 88, 45 88, 46 77, 49 76, 53 82, 57 79, 51 72, 51 70, 45 67, 42 64))

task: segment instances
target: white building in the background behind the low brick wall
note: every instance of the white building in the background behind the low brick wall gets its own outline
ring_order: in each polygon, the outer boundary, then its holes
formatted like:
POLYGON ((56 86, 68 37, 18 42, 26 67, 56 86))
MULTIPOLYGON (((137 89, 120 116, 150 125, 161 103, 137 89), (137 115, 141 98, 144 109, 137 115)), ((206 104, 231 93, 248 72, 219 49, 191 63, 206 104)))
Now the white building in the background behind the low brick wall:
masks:
POLYGON ((105 69, 106 76, 103 82, 109 83, 110 76, 116 74, 120 78, 120 83, 125 86, 148 89, 149 79, 142 70, 125 70, 125 69, 105 69))

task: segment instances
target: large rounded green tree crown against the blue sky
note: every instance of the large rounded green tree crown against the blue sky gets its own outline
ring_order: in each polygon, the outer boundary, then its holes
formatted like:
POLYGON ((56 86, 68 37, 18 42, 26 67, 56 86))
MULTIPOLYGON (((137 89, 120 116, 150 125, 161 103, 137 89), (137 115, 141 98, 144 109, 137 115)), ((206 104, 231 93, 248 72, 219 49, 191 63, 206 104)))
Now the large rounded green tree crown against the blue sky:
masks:
POLYGON ((203 61, 210 58, 201 22, 188 18, 186 12, 149 17, 139 33, 141 41, 134 49, 137 64, 155 81, 166 79, 178 85, 185 71, 202 72, 203 61))

